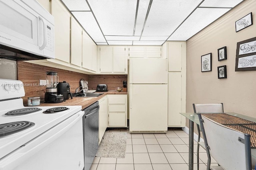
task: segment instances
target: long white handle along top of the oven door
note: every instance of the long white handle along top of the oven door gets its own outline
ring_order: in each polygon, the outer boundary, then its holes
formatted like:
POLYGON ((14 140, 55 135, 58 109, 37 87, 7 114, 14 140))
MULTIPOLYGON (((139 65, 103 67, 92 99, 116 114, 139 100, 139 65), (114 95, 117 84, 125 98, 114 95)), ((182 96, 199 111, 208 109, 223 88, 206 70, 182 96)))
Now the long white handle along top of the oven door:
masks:
MULTIPOLYGON (((79 111, 74 115, 70 116, 68 119, 62 121, 58 125, 49 129, 48 131, 42 133, 38 137, 32 139, 28 143, 22 145, 18 149, 14 150, 16 156, 5 156, 0 160, 0 169, 1 170, 10 170, 18 167, 19 164, 28 160, 31 155, 42 150, 44 147, 55 141, 58 137, 63 135, 66 131, 71 129, 78 121, 81 120, 81 129, 82 129, 82 116, 84 115, 83 111, 79 111)), ((83 137, 81 136, 81 139, 83 137)))

